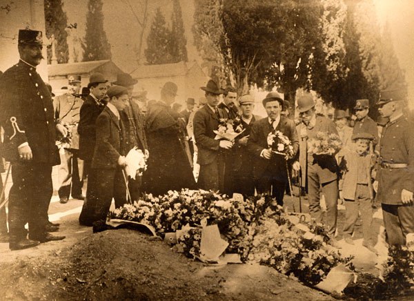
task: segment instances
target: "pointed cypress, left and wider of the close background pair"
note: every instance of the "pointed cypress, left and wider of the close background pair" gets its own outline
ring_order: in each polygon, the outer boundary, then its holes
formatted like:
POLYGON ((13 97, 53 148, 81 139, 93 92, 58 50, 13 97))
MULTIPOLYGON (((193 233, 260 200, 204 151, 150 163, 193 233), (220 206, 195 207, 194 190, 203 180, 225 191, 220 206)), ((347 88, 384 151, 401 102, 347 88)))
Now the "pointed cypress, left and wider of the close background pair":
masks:
POLYGON ((147 37, 147 48, 144 51, 149 65, 172 63, 171 30, 166 24, 164 14, 158 8, 147 37))

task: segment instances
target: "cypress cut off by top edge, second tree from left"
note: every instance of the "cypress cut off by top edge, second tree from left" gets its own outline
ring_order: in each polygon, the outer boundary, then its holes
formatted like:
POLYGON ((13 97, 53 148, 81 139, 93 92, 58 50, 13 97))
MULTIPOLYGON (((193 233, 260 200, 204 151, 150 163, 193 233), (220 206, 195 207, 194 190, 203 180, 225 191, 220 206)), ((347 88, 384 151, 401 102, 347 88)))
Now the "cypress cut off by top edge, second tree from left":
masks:
POLYGON ((103 13, 101 0, 89 0, 86 15, 86 34, 82 43, 83 61, 110 59, 110 43, 103 30, 103 13))

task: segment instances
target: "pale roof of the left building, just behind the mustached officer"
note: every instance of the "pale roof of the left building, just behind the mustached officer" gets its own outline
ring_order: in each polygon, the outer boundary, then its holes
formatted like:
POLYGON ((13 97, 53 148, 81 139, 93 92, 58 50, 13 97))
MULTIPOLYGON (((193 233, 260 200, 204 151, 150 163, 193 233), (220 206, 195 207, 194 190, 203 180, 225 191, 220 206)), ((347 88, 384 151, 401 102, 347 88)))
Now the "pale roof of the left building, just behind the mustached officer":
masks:
POLYGON ((109 59, 102 59, 101 61, 81 61, 79 63, 48 65, 48 75, 53 77, 59 75, 85 74, 108 63, 114 64, 109 59))

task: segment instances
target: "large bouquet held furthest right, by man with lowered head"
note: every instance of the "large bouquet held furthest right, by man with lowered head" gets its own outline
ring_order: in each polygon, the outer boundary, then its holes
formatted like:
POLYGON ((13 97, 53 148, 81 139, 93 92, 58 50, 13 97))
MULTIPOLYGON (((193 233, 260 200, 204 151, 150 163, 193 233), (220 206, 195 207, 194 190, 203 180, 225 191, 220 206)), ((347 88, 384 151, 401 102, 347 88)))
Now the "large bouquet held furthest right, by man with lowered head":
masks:
POLYGON ((342 141, 336 134, 318 132, 313 139, 308 140, 308 153, 315 155, 333 155, 342 148, 342 141))

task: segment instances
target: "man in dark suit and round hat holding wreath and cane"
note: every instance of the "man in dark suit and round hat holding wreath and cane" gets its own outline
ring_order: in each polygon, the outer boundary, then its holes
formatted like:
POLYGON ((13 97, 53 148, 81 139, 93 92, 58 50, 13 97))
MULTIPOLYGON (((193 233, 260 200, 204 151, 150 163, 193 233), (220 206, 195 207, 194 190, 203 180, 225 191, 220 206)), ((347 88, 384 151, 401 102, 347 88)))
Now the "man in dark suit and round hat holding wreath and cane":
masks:
POLYGON ((262 103, 268 117, 255 122, 248 139, 248 150, 255 157, 253 163, 255 186, 257 193, 268 193, 276 198, 277 204, 283 206, 284 191, 288 183, 286 159, 282 155, 272 153, 267 137, 273 130, 279 130, 290 139, 294 154, 299 149, 299 140, 295 122, 280 115, 283 99, 279 93, 268 93, 262 103))

